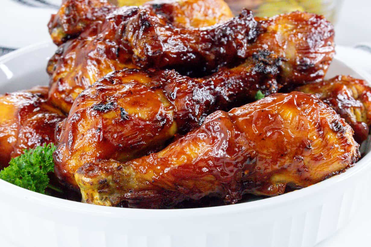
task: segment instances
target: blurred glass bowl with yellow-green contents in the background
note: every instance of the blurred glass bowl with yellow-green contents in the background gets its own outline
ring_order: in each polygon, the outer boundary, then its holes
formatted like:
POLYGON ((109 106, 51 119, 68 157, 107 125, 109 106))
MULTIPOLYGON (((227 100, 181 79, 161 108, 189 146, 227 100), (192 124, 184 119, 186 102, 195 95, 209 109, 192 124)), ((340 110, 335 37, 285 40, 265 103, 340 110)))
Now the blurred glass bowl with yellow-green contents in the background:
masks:
POLYGON ((242 8, 253 10, 255 16, 271 17, 276 14, 292 11, 306 11, 322 14, 336 22, 343 0, 225 0, 234 14, 240 13, 242 8))

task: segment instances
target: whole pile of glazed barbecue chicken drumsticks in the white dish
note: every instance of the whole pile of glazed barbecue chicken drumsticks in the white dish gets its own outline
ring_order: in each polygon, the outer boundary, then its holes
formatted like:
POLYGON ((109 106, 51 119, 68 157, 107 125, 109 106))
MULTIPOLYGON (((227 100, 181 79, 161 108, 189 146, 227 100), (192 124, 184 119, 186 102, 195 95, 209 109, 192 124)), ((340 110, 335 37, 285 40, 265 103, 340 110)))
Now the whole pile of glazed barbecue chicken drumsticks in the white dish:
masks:
POLYGON ((48 27, 49 87, 0 97, 0 168, 55 143, 55 174, 83 202, 171 208, 277 196, 360 158, 371 88, 324 80, 335 49, 323 16, 63 0, 48 27))

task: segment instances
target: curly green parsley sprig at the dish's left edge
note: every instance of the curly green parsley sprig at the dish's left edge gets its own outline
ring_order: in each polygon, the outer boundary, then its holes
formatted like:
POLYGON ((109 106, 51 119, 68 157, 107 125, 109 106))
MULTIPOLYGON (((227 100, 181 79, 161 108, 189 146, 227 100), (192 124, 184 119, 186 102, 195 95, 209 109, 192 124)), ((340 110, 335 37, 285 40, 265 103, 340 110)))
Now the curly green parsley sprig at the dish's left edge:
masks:
POLYGON ((49 187, 47 173, 54 172, 54 144, 24 150, 24 154, 12 158, 9 166, 0 171, 0 179, 16 186, 45 194, 49 187))

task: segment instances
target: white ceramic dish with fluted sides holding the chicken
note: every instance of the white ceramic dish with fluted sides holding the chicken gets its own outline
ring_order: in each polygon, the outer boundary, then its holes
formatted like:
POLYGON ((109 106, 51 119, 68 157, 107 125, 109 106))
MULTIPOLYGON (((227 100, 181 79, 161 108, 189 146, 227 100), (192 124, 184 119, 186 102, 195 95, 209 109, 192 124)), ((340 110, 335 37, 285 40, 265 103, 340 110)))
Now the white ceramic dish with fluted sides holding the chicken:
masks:
MULTIPOLYGON (((42 43, 1 57, 0 92, 47 84, 55 49, 42 43)), ((370 79, 337 58, 327 77, 336 74, 370 79)), ((83 204, 0 180, 0 237, 22 247, 313 246, 346 224, 368 196, 370 163, 368 153, 345 173, 278 197, 173 210, 83 204)))

